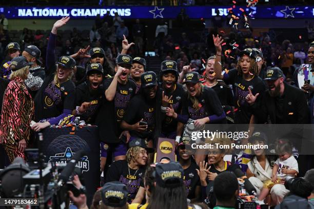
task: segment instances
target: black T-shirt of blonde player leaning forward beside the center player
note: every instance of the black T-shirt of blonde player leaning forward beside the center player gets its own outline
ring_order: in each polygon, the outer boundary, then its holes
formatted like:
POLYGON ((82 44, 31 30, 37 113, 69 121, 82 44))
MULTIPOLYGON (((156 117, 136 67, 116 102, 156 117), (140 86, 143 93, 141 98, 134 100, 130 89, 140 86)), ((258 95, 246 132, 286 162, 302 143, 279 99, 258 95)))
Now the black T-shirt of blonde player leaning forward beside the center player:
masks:
MULTIPOLYGON (((203 92, 198 97, 196 97, 199 101, 200 109, 197 110, 193 108, 193 103, 186 94, 184 96, 184 100, 182 101, 182 115, 188 115, 189 118, 197 120, 209 117, 210 115, 220 116, 223 113, 224 110, 217 96, 217 93, 206 86, 204 86, 203 88, 203 92)), ((225 120, 217 121, 216 123, 223 122, 225 122, 225 120)))

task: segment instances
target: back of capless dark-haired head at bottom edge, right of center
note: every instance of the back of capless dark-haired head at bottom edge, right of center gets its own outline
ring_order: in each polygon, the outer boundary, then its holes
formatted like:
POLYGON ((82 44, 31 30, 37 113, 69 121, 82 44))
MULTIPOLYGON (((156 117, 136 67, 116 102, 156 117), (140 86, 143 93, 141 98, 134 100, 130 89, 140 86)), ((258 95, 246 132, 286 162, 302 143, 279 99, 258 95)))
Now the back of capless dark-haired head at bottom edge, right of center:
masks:
POLYGON ((219 174, 213 182, 213 192, 217 199, 213 209, 235 208, 239 195, 237 177, 231 172, 219 174))

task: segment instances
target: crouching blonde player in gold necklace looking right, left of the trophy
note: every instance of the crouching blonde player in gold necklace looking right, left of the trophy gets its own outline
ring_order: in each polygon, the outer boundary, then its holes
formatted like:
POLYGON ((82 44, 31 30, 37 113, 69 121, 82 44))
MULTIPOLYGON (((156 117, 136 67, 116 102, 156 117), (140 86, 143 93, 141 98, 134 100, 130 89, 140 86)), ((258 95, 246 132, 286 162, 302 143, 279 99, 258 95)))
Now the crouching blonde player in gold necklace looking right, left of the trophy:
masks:
POLYGON ((148 162, 148 153, 153 152, 148 148, 144 139, 135 138, 129 142, 126 160, 117 160, 109 166, 106 183, 120 181, 129 189, 128 202, 141 203, 144 199, 144 173, 148 162), (137 193, 141 195, 136 195, 137 193), (136 198, 135 198, 136 196, 136 198))

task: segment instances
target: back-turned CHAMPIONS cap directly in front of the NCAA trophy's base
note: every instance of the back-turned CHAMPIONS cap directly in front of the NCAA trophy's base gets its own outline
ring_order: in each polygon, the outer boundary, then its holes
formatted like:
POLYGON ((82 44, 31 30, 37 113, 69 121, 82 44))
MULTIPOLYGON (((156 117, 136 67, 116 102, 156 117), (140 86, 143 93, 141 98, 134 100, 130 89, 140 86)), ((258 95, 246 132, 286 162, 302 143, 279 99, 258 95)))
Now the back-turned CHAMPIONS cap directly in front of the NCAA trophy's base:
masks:
POLYGON ((183 184, 183 169, 179 162, 158 163, 155 170, 156 183, 162 187, 178 187, 183 184))

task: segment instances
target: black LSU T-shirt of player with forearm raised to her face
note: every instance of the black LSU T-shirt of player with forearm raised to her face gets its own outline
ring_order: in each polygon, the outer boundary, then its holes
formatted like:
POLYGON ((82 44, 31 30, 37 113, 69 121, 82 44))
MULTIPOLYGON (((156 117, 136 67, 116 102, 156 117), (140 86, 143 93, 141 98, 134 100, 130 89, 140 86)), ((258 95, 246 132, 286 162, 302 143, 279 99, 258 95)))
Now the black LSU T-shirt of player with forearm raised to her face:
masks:
MULTIPOLYGON (((97 114, 96 124, 99 126, 100 139, 107 143, 119 143, 119 136, 122 132, 120 123, 126 112, 131 98, 135 95, 135 82, 128 79, 125 85, 117 82, 115 96, 112 101, 108 101, 105 91, 110 86, 113 78, 104 80, 104 102, 97 114)), ((139 108, 139 107, 136 107, 139 108)))

